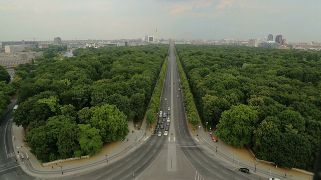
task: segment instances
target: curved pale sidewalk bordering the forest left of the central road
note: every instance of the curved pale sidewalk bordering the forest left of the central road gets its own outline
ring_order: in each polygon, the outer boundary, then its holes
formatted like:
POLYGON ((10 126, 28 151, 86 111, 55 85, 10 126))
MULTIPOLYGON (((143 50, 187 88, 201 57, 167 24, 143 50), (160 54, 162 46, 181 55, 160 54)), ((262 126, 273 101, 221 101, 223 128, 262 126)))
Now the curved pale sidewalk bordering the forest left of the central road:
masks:
POLYGON ((107 164, 107 158, 108 163, 110 163, 112 161, 117 160, 119 157, 122 157, 132 152, 135 149, 135 139, 138 145, 140 140, 145 138, 145 131, 142 129, 147 129, 148 127, 146 123, 142 123, 141 130, 138 130, 138 126, 136 127, 136 124, 133 124, 132 121, 129 121, 128 126, 130 131, 124 140, 105 143, 103 145, 102 151, 91 156, 90 158, 66 161, 44 167, 38 161, 37 157, 30 152, 30 147, 24 142, 23 137, 25 136, 25 133, 23 127, 17 126, 15 124, 13 124, 12 126, 13 133, 16 137, 16 140, 13 141, 13 145, 16 147, 15 153, 17 155, 17 159, 19 160, 22 169, 25 170, 26 173, 35 177, 55 178, 97 169, 107 164), (134 132, 132 132, 133 130, 134 132), (128 139, 128 141, 126 139, 128 139), (106 156, 105 154, 108 155, 106 156), (19 155, 23 155, 24 159, 22 160, 22 158, 19 158, 19 155), (102 163, 102 161, 105 163, 102 163), (87 164, 96 165, 88 166, 85 169, 81 168, 83 166, 86 166, 87 164), (61 168, 60 166, 63 167, 61 168), (72 168, 72 171, 68 170, 71 170, 72 168), (63 175, 61 174, 61 169, 63 169, 63 175))

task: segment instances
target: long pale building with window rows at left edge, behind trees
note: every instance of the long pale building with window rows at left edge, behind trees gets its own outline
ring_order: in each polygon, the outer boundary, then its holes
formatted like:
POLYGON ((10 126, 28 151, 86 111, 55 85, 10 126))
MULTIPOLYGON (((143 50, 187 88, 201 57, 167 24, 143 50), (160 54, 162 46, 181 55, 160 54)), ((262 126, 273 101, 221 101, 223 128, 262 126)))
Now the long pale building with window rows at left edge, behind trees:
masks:
POLYGON ((0 65, 12 67, 23 63, 32 63, 32 59, 42 56, 42 53, 33 51, 0 53, 0 65))

